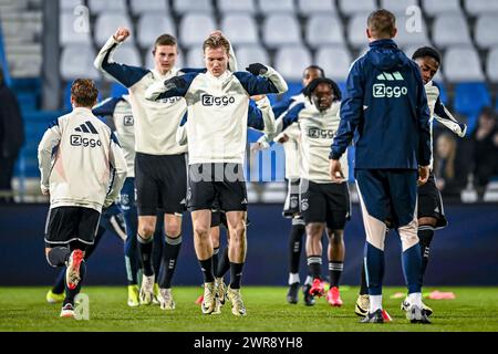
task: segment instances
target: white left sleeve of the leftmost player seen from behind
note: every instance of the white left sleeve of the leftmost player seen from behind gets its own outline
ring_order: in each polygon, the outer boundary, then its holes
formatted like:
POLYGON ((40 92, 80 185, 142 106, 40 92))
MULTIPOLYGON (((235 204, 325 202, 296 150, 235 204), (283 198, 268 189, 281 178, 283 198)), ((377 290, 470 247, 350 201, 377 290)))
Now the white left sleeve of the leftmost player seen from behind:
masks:
POLYGON ((50 173, 52 170, 52 154, 55 147, 61 142, 61 128, 59 127, 59 121, 54 121, 38 146, 38 167, 40 168, 40 187, 44 190, 49 190, 50 173))

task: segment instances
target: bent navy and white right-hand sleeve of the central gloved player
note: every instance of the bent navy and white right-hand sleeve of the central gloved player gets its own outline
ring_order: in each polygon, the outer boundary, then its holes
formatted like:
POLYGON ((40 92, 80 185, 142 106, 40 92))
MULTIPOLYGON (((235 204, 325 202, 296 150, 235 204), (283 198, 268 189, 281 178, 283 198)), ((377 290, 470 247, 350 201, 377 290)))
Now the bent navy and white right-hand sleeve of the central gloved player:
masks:
POLYGON ((269 93, 286 93, 287 82, 273 67, 267 65, 268 71, 262 75, 252 75, 248 72, 236 72, 234 75, 240 81, 249 96, 266 95, 269 93))

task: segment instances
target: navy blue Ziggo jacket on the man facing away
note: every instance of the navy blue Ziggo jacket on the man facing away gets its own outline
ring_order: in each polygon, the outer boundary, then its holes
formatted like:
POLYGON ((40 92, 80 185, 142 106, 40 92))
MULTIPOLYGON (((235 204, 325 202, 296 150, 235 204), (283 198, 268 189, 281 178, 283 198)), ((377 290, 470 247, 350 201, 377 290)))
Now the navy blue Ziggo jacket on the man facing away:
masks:
POLYGON ((356 169, 417 169, 430 163, 421 72, 392 40, 370 43, 352 64, 330 158, 339 159, 353 137, 356 169))

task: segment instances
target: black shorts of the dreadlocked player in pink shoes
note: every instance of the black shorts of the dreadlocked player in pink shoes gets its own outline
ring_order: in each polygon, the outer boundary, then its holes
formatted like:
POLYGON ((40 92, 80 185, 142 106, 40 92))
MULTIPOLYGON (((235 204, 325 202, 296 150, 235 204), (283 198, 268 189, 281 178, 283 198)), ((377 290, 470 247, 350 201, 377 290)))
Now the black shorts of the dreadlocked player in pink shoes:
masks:
POLYGON ((351 218, 347 184, 315 184, 301 180, 301 214, 304 222, 325 222, 331 230, 343 230, 351 218))

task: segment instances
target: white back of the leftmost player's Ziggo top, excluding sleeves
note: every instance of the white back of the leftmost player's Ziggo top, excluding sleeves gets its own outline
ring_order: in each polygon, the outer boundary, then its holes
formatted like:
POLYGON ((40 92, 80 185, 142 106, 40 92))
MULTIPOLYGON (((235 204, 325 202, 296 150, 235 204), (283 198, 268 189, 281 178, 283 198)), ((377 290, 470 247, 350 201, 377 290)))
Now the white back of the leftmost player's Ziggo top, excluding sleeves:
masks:
POLYGON ((54 124, 60 129, 50 174, 51 207, 100 210, 111 180, 111 129, 89 108, 76 107, 54 124))

